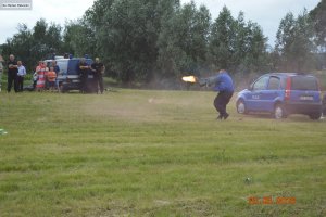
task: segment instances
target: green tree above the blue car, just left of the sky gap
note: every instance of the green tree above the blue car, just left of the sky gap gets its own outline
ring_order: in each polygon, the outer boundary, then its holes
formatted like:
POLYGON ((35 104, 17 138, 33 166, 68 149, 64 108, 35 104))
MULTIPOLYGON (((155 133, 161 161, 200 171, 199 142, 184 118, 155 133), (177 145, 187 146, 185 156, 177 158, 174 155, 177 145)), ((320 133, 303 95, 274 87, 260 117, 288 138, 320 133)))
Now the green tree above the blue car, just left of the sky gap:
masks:
POLYGON ((262 71, 268 62, 266 40, 256 23, 246 23, 243 12, 235 20, 224 7, 212 25, 211 62, 234 73, 262 71))

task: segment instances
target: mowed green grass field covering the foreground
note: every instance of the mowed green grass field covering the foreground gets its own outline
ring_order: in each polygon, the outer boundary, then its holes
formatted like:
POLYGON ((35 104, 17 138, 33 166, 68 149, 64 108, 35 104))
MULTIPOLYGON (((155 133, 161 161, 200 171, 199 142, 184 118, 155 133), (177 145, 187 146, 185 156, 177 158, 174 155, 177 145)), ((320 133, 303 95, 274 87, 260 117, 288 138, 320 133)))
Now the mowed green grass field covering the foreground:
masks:
POLYGON ((0 93, 0 216, 326 216, 326 120, 214 98, 0 93))

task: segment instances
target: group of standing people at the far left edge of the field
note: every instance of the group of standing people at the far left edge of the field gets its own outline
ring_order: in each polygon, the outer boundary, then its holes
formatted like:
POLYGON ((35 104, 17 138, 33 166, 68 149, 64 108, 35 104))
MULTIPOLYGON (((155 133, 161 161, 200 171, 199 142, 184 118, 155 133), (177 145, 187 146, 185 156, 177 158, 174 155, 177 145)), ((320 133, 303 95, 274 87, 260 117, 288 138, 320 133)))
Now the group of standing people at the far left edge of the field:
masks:
MULTIPOLYGON (((0 58, 0 74, 2 73, 3 65, 2 65, 3 59, 2 56, 0 58)), ((14 87, 15 92, 22 92, 23 87, 24 87, 24 77, 26 76, 26 68, 23 65, 22 61, 16 61, 15 56, 11 54, 9 56, 9 62, 8 62, 8 86, 7 86, 7 91, 10 92, 12 89, 12 86, 14 87)), ((0 80, 1 80, 1 75, 0 75, 0 80)), ((1 84, 0 84, 0 91, 1 91, 1 84)))

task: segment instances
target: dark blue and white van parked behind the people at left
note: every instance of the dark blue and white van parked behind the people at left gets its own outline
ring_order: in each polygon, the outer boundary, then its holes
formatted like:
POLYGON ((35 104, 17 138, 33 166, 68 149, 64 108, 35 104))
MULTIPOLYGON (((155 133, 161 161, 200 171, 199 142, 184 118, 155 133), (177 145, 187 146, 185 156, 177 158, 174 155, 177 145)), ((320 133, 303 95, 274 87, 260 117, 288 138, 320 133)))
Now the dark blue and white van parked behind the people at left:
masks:
MULTIPOLYGON (((79 75, 79 62, 80 58, 73 59, 58 59, 57 65, 60 67, 60 73, 58 75, 58 82, 61 92, 67 92, 70 90, 80 90, 80 75, 79 75)), ((48 67, 51 66, 52 60, 46 61, 48 67)), ((91 59, 86 59, 86 63, 91 65, 93 61, 91 59)), ((93 79, 93 74, 91 71, 88 72, 87 80, 87 91, 95 92, 96 84, 93 79)))

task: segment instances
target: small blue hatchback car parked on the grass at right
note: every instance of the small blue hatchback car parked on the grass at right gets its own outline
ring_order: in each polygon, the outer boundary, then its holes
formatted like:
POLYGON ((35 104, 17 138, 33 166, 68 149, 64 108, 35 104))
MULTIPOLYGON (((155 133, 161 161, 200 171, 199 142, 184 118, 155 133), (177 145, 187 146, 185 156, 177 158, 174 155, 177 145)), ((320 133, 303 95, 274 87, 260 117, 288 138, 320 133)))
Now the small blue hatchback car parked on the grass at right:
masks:
POLYGON ((271 73, 258 78, 237 98, 237 112, 271 113, 276 119, 303 114, 322 116, 322 95, 316 77, 298 73, 271 73))

